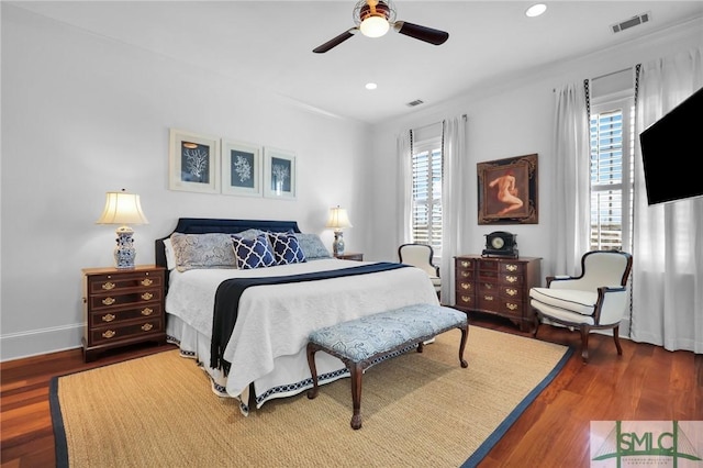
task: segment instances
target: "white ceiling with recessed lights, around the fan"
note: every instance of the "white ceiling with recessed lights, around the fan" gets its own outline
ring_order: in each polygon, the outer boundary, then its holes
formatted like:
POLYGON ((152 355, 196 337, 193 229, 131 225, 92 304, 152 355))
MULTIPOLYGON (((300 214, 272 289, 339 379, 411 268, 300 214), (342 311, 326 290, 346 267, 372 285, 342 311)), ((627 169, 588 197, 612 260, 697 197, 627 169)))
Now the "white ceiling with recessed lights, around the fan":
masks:
POLYGON ((354 26, 356 0, 20 1, 16 7, 223 74, 303 105, 369 123, 403 115, 472 87, 584 55, 703 16, 703 1, 395 0, 397 19, 447 31, 439 46, 390 32, 312 49, 354 26), (648 12, 618 34, 611 24, 648 12), (364 85, 378 83, 368 91, 364 85))

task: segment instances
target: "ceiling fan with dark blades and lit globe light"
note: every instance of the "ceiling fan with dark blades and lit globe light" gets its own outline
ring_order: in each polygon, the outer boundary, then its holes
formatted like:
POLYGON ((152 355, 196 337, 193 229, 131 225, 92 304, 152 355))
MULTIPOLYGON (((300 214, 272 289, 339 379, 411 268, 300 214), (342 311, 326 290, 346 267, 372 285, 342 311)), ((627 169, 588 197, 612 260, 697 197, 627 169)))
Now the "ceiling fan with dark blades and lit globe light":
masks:
POLYGON ((380 37, 388 32, 390 26, 393 26, 400 34, 434 45, 444 44, 449 38, 449 33, 444 31, 406 21, 395 21, 395 5, 391 0, 359 0, 354 7, 352 16, 356 23, 354 27, 315 47, 312 52, 324 54, 359 31, 368 37, 380 37))

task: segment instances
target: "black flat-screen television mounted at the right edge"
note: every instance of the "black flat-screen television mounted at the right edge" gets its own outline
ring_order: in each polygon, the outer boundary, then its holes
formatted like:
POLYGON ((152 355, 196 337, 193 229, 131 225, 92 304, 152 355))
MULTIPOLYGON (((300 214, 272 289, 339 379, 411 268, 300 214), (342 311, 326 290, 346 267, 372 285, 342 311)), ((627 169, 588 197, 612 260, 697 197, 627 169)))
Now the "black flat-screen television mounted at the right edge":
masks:
POLYGON ((639 134, 647 203, 703 196, 703 88, 639 134))

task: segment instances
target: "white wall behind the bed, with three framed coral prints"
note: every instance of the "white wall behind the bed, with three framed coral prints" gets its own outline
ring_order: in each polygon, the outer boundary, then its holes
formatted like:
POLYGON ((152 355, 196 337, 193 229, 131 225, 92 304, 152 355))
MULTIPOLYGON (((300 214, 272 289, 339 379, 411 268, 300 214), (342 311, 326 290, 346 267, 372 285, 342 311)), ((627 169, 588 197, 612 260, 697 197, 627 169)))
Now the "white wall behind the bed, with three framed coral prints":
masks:
POLYGON ((137 264, 180 216, 297 220, 322 235, 349 210, 348 250, 366 250, 366 124, 330 118, 235 80, 2 8, 1 355, 80 346, 81 274, 113 264, 115 226, 96 225, 107 191, 141 194, 137 264), (168 190, 169 127, 297 153, 298 199, 168 190), (358 235, 357 235, 358 234, 358 235))

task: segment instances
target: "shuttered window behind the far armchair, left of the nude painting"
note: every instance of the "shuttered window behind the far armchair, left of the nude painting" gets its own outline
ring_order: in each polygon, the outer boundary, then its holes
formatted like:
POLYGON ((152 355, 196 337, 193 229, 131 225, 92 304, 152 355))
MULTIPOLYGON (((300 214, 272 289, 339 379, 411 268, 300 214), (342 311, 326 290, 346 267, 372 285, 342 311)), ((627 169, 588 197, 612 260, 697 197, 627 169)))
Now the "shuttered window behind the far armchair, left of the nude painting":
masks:
POLYGON ((412 242, 431 245, 435 257, 440 257, 442 135, 416 141, 413 132, 412 158, 412 242))

